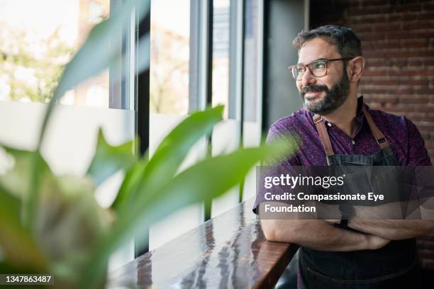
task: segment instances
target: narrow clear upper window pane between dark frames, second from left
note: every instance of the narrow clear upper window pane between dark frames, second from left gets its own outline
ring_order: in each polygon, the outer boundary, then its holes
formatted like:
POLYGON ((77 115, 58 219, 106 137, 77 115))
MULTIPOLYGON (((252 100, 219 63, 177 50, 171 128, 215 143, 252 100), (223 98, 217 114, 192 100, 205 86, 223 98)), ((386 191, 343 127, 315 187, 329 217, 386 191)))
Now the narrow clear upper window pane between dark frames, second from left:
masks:
POLYGON ((187 115, 190 1, 151 1, 150 39, 150 112, 187 115))

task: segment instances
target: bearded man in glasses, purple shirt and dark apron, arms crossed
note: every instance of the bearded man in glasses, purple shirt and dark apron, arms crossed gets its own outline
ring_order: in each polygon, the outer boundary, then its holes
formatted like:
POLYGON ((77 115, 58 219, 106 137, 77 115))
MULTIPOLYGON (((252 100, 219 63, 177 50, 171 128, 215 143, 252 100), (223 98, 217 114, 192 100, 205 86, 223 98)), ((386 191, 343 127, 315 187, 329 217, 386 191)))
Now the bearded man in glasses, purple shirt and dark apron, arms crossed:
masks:
MULTIPOLYGON (((375 111, 357 97, 365 67, 359 38, 350 28, 303 31, 289 67, 304 109, 278 120, 268 140, 296 132, 301 145, 284 166, 431 166, 423 138, 410 120, 375 111), (357 162, 356 162, 357 160, 357 162)), ((258 205, 264 200, 258 196, 258 205)), ((415 237, 429 234, 426 220, 261 220, 265 237, 301 246, 304 288, 417 288, 415 237)))

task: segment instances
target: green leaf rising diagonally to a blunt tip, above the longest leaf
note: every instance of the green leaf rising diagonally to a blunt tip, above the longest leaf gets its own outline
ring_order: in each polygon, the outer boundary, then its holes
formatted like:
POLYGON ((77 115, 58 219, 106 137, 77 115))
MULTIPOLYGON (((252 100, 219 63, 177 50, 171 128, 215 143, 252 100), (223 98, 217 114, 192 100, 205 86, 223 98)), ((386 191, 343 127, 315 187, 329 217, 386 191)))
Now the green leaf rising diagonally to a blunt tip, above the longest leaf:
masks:
POLYGON ((148 165, 142 165, 140 168, 136 167, 134 172, 129 174, 130 177, 125 179, 126 184, 121 186, 118 197, 113 203, 113 208, 120 210, 121 203, 123 203, 122 206, 126 210, 129 210, 128 206, 130 203, 135 202, 138 193, 141 191, 156 191, 157 188, 163 186, 165 179, 171 179, 176 174, 179 165, 187 156, 191 146, 200 140, 201 137, 204 137, 204 135, 211 133, 213 126, 222 119, 222 113, 223 106, 216 106, 216 108, 210 108, 206 111, 192 113, 188 118, 179 123, 162 140, 148 165), (138 171, 142 171, 143 174, 140 176, 138 171), (134 181, 140 182, 140 184, 134 184, 134 181), (140 191, 135 189, 139 186, 140 191))

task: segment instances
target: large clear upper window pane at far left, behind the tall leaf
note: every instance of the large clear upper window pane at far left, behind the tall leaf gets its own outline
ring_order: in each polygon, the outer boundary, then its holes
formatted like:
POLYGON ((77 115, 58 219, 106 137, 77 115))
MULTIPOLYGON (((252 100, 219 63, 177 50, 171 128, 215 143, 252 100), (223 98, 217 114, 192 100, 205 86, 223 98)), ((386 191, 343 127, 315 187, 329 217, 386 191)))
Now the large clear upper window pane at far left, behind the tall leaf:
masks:
MULTIPOLYGON (((65 64, 109 13, 110 0, 2 0, 0 100, 50 101, 65 64)), ((109 70, 67 91, 60 103, 109 108, 109 70)))

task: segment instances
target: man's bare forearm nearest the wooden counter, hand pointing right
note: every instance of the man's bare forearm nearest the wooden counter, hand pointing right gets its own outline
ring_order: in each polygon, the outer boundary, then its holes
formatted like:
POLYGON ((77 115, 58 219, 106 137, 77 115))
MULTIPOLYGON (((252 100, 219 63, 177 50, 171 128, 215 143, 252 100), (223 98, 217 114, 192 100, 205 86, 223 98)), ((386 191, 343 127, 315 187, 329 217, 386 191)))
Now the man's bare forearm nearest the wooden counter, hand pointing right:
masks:
POLYGON ((382 240, 367 234, 340 229, 323 220, 261 220, 269 241, 290 242, 323 251, 378 249, 382 240))

